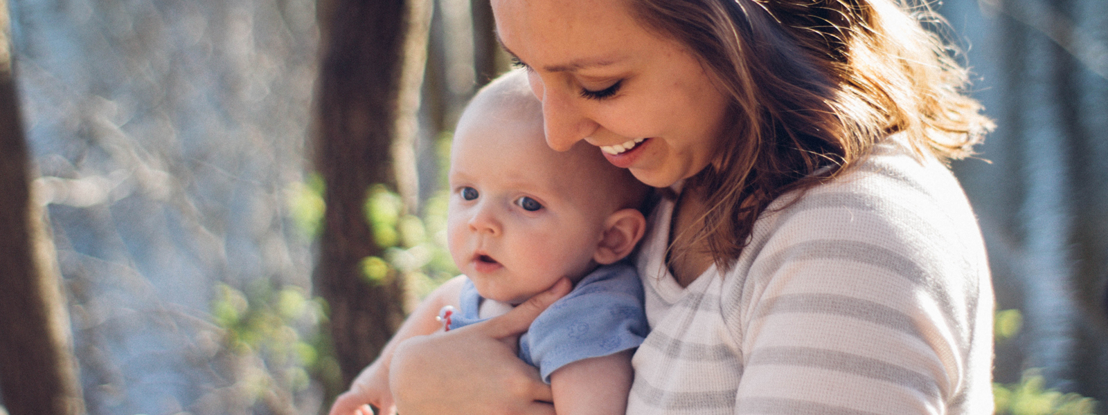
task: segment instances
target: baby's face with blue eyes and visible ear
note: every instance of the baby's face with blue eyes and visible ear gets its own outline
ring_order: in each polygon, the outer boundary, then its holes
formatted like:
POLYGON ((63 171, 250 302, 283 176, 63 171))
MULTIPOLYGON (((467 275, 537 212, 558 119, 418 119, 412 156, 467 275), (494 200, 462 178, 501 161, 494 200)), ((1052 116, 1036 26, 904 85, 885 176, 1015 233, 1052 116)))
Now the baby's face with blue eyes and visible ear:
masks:
POLYGON ((488 299, 520 303, 588 272, 615 211, 607 188, 589 183, 597 163, 587 157, 606 163, 599 154, 557 153, 542 128, 541 120, 501 118, 468 123, 454 137, 450 253, 488 299))

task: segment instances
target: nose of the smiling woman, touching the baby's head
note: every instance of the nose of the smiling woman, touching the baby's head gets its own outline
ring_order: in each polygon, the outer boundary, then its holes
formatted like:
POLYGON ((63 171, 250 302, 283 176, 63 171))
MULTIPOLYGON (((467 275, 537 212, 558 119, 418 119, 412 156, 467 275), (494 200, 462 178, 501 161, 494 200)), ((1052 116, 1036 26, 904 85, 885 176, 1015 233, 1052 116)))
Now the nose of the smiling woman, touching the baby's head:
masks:
POLYGON ((543 103, 543 126, 551 148, 565 152, 596 131, 598 125, 582 111, 578 96, 565 87, 546 87, 532 76, 531 89, 543 103))

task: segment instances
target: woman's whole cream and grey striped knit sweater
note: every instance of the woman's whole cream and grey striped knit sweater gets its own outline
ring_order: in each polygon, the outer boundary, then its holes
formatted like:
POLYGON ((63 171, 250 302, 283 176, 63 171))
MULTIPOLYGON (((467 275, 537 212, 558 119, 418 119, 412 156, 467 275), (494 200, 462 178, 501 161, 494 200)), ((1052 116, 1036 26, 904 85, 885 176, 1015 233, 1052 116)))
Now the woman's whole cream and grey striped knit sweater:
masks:
POLYGON ((685 288, 664 266, 674 203, 655 209, 627 414, 992 414, 993 290, 950 170, 890 139, 787 201, 685 288))

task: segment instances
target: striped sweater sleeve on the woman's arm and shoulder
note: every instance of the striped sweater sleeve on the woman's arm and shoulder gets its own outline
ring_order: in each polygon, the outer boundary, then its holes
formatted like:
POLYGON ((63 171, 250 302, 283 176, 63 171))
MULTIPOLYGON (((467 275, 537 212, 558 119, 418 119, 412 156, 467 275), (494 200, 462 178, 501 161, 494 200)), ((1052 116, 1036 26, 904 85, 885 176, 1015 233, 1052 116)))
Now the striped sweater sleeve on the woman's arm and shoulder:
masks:
POLYGON ((988 270, 944 173, 861 175, 762 221, 721 298, 737 414, 992 413, 988 270))

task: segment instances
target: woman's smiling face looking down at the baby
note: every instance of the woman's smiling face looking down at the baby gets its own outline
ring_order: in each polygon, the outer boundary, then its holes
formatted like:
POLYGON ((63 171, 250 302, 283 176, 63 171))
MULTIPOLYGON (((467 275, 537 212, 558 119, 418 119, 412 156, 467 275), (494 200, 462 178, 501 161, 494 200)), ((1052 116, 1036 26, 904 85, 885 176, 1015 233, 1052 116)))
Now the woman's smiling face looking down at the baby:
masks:
POLYGON ((624 0, 493 0, 496 31, 527 66, 546 143, 584 139, 665 187, 711 162, 727 98, 699 60, 648 31, 624 0))

